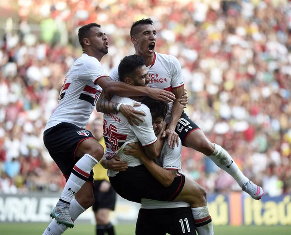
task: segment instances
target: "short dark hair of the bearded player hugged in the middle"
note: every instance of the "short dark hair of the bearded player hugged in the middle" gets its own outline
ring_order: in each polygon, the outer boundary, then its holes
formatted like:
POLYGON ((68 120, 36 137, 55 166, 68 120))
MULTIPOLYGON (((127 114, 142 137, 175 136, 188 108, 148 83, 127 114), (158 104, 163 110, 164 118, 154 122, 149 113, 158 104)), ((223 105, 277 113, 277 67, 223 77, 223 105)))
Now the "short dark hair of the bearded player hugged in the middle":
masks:
POLYGON ((146 60, 138 55, 126 56, 120 61, 118 66, 118 76, 120 81, 125 82, 127 77, 131 77, 132 73, 137 68, 140 68, 146 64, 146 60))

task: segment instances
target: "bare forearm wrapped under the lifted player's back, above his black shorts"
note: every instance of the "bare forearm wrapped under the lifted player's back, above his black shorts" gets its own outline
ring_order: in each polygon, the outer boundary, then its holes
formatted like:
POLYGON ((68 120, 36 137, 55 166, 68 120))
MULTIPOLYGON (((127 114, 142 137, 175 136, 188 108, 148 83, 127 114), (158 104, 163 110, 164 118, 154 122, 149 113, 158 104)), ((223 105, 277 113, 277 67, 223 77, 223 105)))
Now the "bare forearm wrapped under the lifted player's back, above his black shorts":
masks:
POLYGON ((177 171, 175 170, 167 170, 157 165, 154 161, 149 159, 146 156, 146 153, 143 151, 143 147, 141 144, 134 143, 128 144, 132 148, 125 148, 124 153, 127 155, 132 155, 133 157, 139 159, 144 163, 147 170, 157 179, 164 187, 169 187, 176 176, 177 171))

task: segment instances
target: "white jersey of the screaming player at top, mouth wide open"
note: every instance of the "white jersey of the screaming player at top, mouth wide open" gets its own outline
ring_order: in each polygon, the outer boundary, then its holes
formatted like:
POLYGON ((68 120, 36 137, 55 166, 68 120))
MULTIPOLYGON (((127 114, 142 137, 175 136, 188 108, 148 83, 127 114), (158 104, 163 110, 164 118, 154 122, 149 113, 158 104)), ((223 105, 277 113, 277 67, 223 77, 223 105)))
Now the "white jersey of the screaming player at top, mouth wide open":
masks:
MULTIPOLYGON (((155 52, 153 62, 147 69, 147 73, 151 79, 148 86, 151 88, 160 88, 172 92, 173 89, 184 85, 181 65, 174 56, 155 52)), ((119 81, 118 66, 113 69, 110 77, 115 81, 119 81)), ((173 102, 170 102, 166 117, 167 124, 171 120, 172 107, 173 102)))

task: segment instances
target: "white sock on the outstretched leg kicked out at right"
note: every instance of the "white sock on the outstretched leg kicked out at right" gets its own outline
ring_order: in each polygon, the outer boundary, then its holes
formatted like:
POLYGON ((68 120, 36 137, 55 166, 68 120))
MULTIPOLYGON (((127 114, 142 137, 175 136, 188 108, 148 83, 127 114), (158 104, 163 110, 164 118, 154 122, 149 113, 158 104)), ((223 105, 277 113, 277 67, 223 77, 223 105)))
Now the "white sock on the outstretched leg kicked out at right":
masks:
POLYGON ((219 168, 226 171, 229 175, 231 175, 242 188, 242 185, 249 181, 247 177, 245 177, 238 165, 233 161, 231 156, 226 152, 226 150, 220 145, 214 144, 215 149, 214 152, 208 156, 219 168))

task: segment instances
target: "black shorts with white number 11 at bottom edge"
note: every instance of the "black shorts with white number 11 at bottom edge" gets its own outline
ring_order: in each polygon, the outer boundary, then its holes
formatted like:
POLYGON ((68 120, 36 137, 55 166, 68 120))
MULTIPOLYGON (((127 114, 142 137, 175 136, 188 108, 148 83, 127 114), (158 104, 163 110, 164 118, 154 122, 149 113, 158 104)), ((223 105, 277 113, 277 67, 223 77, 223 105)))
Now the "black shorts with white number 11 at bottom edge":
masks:
POLYGON ((135 235, 196 235, 190 207, 140 209, 135 235))

